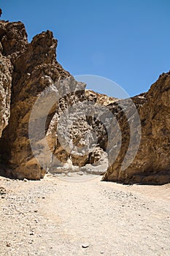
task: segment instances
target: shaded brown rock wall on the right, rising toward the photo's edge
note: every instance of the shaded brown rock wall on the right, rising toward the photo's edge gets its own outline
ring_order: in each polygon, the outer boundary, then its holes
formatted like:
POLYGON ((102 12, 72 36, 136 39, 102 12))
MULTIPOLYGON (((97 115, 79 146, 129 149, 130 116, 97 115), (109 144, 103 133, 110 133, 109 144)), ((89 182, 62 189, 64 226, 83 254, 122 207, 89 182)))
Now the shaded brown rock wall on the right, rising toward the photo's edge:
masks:
MULTIPOLYGON (((132 98, 141 120, 142 133, 134 161, 121 170, 129 144, 129 127, 116 105, 108 108, 117 112, 123 140, 116 161, 104 176, 105 181, 125 184, 166 184, 170 182, 170 72, 163 74, 146 94, 132 98)), ((133 115, 130 116, 133 118, 133 115)), ((138 127, 136 127, 136 130, 138 127)), ((114 128, 112 128, 114 132, 114 128)))

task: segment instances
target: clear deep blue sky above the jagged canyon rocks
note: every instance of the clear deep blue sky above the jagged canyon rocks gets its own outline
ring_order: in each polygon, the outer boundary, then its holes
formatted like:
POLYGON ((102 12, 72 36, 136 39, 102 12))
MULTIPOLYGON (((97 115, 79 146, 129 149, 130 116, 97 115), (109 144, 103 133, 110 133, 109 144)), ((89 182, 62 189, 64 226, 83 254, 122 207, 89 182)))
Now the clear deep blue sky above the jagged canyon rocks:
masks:
POLYGON ((72 75, 100 75, 134 96, 170 69, 170 0, 2 0, 0 7, 1 19, 23 21, 29 41, 52 30, 58 61, 72 75))

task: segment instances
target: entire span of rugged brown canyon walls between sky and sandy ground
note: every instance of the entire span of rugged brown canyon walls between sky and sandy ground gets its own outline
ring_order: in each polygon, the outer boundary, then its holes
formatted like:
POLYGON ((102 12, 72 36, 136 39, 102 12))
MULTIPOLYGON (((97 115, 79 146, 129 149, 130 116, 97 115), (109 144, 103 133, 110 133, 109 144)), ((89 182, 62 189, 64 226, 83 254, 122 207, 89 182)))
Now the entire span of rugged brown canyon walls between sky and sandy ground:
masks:
POLYGON ((105 172, 105 181, 170 182, 170 73, 132 98, 136 123, 128 99, 85 90, 58 64, 51 31, 28 43, 23 23, 1 20, 0 42, 0 154, 7 176, 39 179, 67 165, 105 172))

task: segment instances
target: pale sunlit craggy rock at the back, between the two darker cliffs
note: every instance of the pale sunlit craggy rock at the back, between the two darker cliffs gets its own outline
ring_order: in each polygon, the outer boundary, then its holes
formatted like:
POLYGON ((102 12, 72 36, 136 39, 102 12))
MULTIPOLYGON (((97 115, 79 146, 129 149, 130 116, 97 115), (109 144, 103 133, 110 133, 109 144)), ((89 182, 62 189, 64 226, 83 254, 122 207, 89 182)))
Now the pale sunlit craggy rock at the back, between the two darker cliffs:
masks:
MULTIPOLYGON (((58 107, 47 130, 48 145, 53 152, 49 170, 52 173, 60 172, 61 168, 56 167, 63 167, 70 157, 74 166, 96 165, 96 162, 100 165, 100 160, 106 158, 107 154, 104 154, 107 131, 94 116, 95 108, 99 106, 98 94, 85 91, 85 84, 78 83, 72 77, 65 80, 62 86, 67 86, 66 91, 71 93, 58 100, 58 107)), ((107 170, 107 164, 104 166, 102 173, 107 170)))

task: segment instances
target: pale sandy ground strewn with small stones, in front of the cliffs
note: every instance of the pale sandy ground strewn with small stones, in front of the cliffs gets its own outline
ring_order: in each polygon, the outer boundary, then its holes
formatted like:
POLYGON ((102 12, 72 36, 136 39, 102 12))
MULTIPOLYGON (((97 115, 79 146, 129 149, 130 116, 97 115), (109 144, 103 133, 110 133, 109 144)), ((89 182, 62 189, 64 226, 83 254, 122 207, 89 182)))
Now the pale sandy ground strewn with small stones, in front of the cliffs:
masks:
POLYGON ((0 176, 0 255, 170 255, 170 184, 100 180, 0 176))

